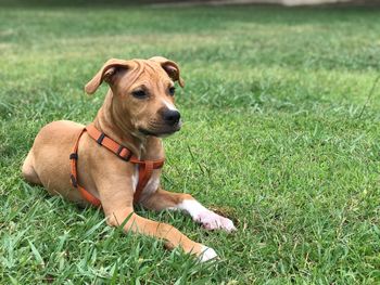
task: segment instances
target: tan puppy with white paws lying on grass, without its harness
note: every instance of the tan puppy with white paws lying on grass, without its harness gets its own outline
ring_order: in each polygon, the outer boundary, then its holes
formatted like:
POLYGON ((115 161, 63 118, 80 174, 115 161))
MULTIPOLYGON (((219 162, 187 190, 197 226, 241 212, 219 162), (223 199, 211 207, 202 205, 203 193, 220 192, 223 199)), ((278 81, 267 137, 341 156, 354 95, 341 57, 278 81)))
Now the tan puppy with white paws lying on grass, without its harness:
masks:
MULTIPOLYGON (((124 145, 141 160, 164 157, 161 137, 180 129, 180 114, 174 105, 174 81, 183 87, 178 65, 164 57, 150 60, 110 60, 87 83, 92 94, 106 81, 110 90, 93 120, 96 129, 124 145)), ((71 184, 68 157, 85 126, 73 121, 53 121, 38 133, 24 165, 24 178, 42 184, 50 194, 88 205, 71 184)), ((151 221, 134 212, 134 193, 139 180, 139 166, 125 161, 102 147, 88 132, 78 143, 78 183, 100 200, 107 223, 125 231, 139 232, 165 241, 169 248, 180 246, 202 261, 216 252, 195 243, 172 225, 151 221)), ((205 229, 235 230, 232 221, 206 209, 189 194, 169 193, 160 186, 162 170, 154 169, 135 203, 152 210, 180 209, 205 229)))

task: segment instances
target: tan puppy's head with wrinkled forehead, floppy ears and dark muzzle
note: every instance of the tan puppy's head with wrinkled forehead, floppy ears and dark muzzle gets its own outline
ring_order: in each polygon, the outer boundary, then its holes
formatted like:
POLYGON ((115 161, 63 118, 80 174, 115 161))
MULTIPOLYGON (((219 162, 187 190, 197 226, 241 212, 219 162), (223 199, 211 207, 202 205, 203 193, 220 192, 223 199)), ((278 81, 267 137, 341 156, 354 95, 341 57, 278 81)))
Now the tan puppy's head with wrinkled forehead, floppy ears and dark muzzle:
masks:
POLYGON ((109 60, 86 85, 86 92, 94 93, 103 81, 112 90, 111 114, 118 124, 142 135, 161 137, 180 129, 174 83, 183 87, 183 80, 175 62, 161 56, 109 60))

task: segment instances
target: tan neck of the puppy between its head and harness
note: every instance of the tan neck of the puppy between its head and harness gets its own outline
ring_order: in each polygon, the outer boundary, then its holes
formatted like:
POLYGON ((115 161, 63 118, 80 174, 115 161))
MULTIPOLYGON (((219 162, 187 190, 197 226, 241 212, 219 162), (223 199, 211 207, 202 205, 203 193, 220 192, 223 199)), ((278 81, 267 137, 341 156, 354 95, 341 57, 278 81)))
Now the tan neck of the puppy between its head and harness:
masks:
POLYGON ((139 159, 159 159, 164 157, 162 139, 134 132, 122 118, 117 117, 113 106, 113 93, 109 90, 104 103, 93 120, 94 127, 109 138, 128 147, 139 159))

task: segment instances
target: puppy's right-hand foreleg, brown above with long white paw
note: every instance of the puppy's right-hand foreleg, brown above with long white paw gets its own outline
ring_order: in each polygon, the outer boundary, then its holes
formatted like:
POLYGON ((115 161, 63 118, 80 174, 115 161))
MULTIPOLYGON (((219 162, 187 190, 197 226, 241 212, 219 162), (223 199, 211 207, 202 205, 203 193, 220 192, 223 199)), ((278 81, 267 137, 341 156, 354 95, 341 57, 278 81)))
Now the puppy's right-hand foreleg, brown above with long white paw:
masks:
POLYGON ((227 232, 236 230, 233 222, 230 219, 208 210, 189 194, 172 193, 159 189, 148 199, 143 200, 142 205, 148 209, 157 211, 164 209, 183 210, 189 213, 195 222, 201 223, 206 230, 221 229, 227 232))

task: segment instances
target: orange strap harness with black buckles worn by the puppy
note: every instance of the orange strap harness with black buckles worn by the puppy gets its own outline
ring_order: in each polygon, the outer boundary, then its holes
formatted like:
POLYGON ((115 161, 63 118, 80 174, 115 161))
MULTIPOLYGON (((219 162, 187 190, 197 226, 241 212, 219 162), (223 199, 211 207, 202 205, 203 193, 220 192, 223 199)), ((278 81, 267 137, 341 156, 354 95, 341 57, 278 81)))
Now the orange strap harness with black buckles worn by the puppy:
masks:
POLYGON ((72 180, 73 186, 78 189, 81 196, 96 207, 101 206, 100 199, 98 199, 96 196, 93 196, 91 193, 89 193, 87 190, 85 190, 83 186, 78 184, 78 173, 77 173, 78 145, 79 145, 81 135, 86 131, 93 140, 97 141, 99 145, 104 146, 110 152, 114 153, 118 158, 139 166, 139 182, 137 184, 136 192, 134 195, 134 202, 137 203, 139 200, 142 190, 147 185, 149 179, 152 177, 153 169, 162 168, 164 166, 165 159, 162 158, 157 160, 139 160, 130 150, 116 143, 114 140, 106 137, 103 132, 100 132, 92 124, 88 125, 79 133, 78 139, 76 140, 76 143, 73 147, 73 153, 69 155, 71 168, 72 168, 71 180, 72 180))

